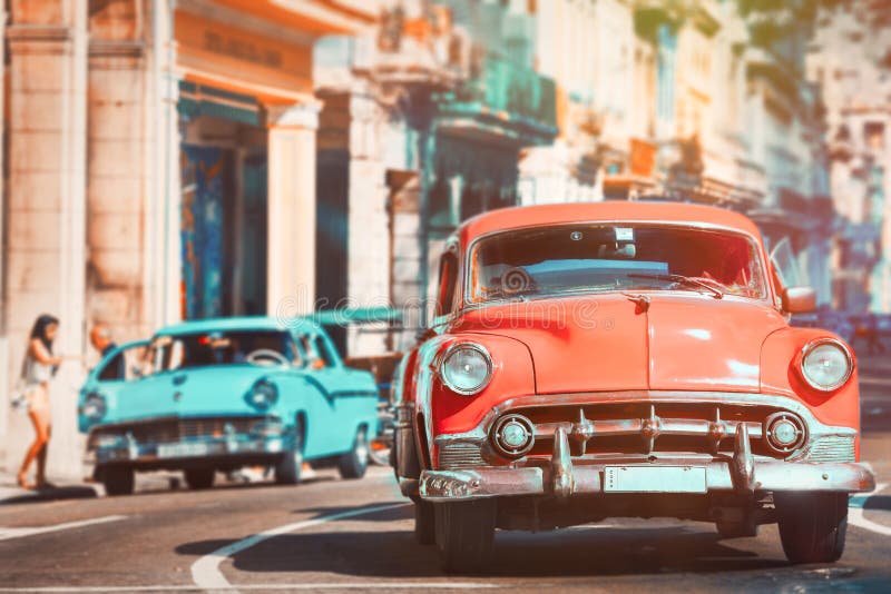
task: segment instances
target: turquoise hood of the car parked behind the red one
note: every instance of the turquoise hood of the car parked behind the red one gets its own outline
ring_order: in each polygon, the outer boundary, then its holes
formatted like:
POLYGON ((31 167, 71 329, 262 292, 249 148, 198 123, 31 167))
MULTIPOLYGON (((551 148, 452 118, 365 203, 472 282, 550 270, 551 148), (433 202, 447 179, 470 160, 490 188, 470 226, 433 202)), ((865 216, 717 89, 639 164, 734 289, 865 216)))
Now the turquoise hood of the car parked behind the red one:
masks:
POLYGON ((282 372, 256 365, 221 365, 156 374, 137 379, 109 402, 102 423, 158 416, 231 416, 258 413, 244 396, 261 378, 282 372))

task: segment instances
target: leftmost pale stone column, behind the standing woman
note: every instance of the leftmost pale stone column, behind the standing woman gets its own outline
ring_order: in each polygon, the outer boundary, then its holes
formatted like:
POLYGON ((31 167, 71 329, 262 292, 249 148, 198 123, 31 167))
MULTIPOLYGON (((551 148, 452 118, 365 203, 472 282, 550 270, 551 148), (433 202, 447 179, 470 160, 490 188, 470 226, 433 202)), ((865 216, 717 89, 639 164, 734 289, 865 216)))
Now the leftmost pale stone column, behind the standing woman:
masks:
MULTIPOLYGON (((7 30, 11 117, 4 316, 12 377, 30 326, 42 313, 61 320, 57 354, 85 352, 86 276, 87 2, 17 7, 7 30)), ((53 476, 79 477, 80 440, 75 430, 62 429, 76 427, 71 387, 81 380, 81 365, 68 360, 52 383, 53 476)), ((32 438, 28 419, 14 415, 4 436, 7 467, 18 466, 32 438)))

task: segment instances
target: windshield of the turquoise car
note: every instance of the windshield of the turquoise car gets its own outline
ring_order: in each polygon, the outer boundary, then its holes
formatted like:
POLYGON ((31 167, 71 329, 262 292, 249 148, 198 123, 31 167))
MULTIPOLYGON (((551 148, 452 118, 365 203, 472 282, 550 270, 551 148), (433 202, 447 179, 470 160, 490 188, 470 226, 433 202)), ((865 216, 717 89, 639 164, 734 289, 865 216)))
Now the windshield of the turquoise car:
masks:
POLYGON ((300 362, 294 341, 286 331, 209 331, 156 337, 151 341, 151 370, 244 364, 249 363, 252 353, 260 350, 272 350, 295 364, 300 362))

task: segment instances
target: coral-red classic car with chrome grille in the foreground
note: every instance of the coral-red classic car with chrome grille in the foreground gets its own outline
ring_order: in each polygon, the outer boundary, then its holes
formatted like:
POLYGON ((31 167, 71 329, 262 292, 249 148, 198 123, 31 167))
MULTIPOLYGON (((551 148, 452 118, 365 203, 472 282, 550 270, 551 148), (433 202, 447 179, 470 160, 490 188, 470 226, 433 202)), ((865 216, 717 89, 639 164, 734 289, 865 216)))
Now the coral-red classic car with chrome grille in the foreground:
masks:
POLYGON ((755 225, 672 202, 495 210, 440 263, 431 329, 394 378, 394 467, 415 536, 480 571, 496 528, 606 517, 779 523, 833 562, 859 464, 854 356, 793 328, 755 225))

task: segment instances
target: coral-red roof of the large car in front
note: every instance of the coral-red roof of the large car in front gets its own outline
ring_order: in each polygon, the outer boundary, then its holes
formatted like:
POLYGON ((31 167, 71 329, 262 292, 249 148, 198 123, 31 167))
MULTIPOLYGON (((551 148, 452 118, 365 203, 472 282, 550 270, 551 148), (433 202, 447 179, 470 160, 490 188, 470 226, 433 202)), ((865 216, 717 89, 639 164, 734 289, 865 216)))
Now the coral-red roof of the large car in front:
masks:
POLYGON ((501 208, 464 221, 458 229, 458 235, 462 244, 467 245, 477 237, 492 231, 588 221, 689 222, 741 231, 761 239, 758 228, 752 219, 733 210, 655 200, 607 200, 501 208))

